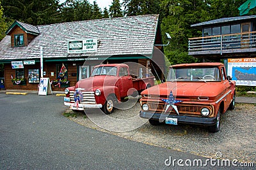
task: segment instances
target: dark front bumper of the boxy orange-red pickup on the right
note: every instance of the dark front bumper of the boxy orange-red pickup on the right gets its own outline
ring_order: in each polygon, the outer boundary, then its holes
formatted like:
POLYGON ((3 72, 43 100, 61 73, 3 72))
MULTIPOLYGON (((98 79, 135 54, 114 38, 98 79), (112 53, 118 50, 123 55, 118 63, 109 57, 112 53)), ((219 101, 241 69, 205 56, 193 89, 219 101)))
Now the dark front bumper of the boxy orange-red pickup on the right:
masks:
POLYGON ((177 118, 178 124, 195 124, 195 125, 215 125, 216 118, 207 118, 207 117, 188 117, 188 116, 180 116, 180 115, 165 115, 161 113, 150 113, 145 111, 140 111, 141 118, 159 120, 161 118, 162 121, 165 120, 166 117, 169 118, 177 118))

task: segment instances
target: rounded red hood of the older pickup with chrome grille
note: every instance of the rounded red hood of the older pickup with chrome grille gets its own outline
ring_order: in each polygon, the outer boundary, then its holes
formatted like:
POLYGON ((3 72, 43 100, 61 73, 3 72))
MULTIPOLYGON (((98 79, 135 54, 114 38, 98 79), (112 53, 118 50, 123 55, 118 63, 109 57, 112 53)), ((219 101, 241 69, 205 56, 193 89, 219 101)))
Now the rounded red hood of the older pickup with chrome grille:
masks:
POLYGON ((93 88, 104 87, 104 86, 113 86, 117 81, 116 76, 93 76, 86 78, 76 83, 76 89, 82 88, 84 91, 92 91, 93 88))

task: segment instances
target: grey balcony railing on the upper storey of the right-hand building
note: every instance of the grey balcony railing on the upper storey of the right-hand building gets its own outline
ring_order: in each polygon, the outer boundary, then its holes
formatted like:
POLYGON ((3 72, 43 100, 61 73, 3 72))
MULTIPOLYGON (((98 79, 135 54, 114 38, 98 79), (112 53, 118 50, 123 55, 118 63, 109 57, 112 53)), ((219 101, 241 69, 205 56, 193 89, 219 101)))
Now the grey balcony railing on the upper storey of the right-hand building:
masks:
POLYGON ((256 51, 256 31, 189 38, 189 55, 256 51))

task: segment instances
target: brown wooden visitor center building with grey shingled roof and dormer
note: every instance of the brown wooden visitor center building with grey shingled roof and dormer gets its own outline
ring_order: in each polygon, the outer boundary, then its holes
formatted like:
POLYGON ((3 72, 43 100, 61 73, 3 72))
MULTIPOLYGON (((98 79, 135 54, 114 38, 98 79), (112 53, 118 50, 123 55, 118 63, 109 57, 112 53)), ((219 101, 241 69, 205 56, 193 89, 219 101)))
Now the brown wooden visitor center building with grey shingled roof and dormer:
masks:
POLYGON ((4 86, 37 90, 44 76, 50 78, 52 90, 64 90, 88 78, 101 63, 136 62, 132 74, 143 77, 151 70, 163 78, 161 44, 159 15, 50 25, 15 21, 0 42, 4 86))

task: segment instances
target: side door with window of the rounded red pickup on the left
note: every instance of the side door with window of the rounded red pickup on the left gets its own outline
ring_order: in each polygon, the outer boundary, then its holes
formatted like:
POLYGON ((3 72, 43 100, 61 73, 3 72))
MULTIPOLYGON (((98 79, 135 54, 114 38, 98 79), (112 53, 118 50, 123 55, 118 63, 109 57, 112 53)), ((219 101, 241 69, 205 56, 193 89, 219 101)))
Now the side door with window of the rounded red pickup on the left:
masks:
POLYGON ((132 86, 132 78, 128 75, 128 68, 127 67, 120 67, 119 71, 119 89, 120 89, 120 96, 125 97, 128 96, 127 92, 131 89, 132 86))

